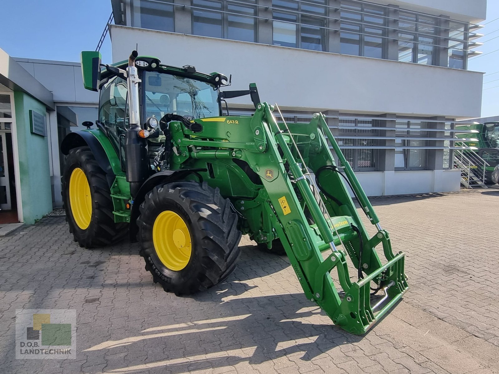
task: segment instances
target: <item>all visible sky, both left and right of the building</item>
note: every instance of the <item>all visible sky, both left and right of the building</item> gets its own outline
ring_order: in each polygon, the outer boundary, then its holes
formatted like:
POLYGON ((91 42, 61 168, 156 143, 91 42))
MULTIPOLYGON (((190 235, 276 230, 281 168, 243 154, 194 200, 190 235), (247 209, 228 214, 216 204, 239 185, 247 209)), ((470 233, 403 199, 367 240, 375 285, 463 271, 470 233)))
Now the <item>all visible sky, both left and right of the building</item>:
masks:
MULTIPOLYGON (((79 61, 81 50, 95 49, 111 14, 111 1, 0 0, 0 13, 3 15, 0 48, 9 55, 79 61)), ((499 2, 489 0, 487 20, 482 22, 487 23, 486 27, 478 31, 486 35, 478 41, 487 42, 476 48, 483 51, 484 55, 471 58, 468 64, 470 70, 487 74, 498 72, 484 77, 483 117, 499 115, 499 51, 496 51, 499 49, 498 17, 499 2), (493 40, 488 41, 489 39, 493 40), (488 52, 493 53, 485 55, 488 52)), ((101 53, 102 61, 110 63, 109 35, 101 53)))

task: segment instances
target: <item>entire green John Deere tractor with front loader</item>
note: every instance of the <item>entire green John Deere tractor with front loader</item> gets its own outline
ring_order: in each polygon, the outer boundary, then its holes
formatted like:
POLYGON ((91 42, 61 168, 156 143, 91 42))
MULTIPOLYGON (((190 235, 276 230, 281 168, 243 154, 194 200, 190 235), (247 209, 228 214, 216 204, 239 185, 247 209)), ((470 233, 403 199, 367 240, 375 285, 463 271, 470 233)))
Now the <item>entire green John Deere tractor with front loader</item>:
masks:
POLYGON ((306 297, 354 334, 407 291, 405 255, 392 252, 321 113, 310 123, 279 123, 254 84, 222 91, 230 83, 223 74, 135 51, 114 65, 101 65, 98 52, 81 60, 85 88, 100 91, 97 128, 86 122, 88 130, 61 145, 64 207, 80 246, 114 243, 128 230, 154 282, 189 295, 234 270, 248 234, 263 250, 287 255, 306 297), (224 100, 243 95, 252 116, 223 110, 224 100), (349 188, 376 227, 373 237, 349 188))

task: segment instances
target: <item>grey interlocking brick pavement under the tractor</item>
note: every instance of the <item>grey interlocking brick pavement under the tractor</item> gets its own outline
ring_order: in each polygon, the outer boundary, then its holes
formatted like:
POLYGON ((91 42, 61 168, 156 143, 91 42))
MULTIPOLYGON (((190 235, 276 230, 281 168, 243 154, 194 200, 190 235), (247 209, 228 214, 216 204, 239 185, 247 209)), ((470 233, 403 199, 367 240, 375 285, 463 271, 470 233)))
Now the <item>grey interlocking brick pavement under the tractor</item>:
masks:
POLYGON ((244 238, 227 282, 167 294, 136 245, 79 248, 63 217, 0 238, 0 373, 499 373, 499 189, 376 198, 411 289, 364 337, 244 238), (76 360, 15 360, 15 309, 76 309, 76 360))

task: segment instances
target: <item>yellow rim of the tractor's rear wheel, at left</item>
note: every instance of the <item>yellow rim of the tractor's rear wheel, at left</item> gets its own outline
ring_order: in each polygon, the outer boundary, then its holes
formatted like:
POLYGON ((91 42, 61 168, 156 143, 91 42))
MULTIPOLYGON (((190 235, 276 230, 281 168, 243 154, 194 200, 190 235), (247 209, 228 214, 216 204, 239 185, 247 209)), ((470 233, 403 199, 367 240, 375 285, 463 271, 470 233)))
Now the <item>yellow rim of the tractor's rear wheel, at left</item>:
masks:
POLYGON ((80 168, 74 169, 69 178, 69 205, 74 221, 85 230, 92 218, 92 196, 87 177, 80 168))

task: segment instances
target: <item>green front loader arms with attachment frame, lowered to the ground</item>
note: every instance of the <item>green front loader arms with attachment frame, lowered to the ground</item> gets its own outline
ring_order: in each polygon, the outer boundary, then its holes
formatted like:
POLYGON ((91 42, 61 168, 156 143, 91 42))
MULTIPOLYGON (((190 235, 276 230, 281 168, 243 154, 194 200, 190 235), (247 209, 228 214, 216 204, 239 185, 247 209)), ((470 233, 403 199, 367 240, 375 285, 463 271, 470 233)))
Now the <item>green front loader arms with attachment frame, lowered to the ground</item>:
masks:
MULTIPOLYGON (((350 333, 364 334, 407 291, 405 254, 393 253, 388 232, 381 228, 324 115, 316 113, 308 125, 289 124, 288 127, 285 121, 276 121, 273 110, 274 106, 259 104, 251 121, 253 128, 257 126, 266 133, 265 138, 269 140, 267 152, 272 154, 271 159, 281 169, 279 178, 264 182, 264 192, 260 193, 269 205, 266 211, 274 214, 273 228, 281 239, 305 295, 317 303, 334 324, 350 333), (326 139, 339 160, 339 168, 326 139), (310 170, 315 173, 315 181, 310 170), (294 187, 290 184, 291 177, 294 187), (373 237, 368 236, 347 186, 375 225, 373 237), (312 225, 305 218, 296 187, 313 217, 312 225), (312 188, 320 190, 319 199, 312 188), (384 265, 375 250, 378 244, 382 245, 387 260, 384 265), (324 257, 322 252, 330 254, 324 257), (356 282, 350 279, 346 255, 357 269, 356 282), (342 293, 338 292, 331 278, 330 272, 334 269, 342 293), (373 284, 375 287, 371 288, 373 284), (384 295, 375 296, 378 291, 384 295)), ((282 114, 280 117, 283 119, 282 114)), ((262 162, 261 159, 259 161, 262 162)))

